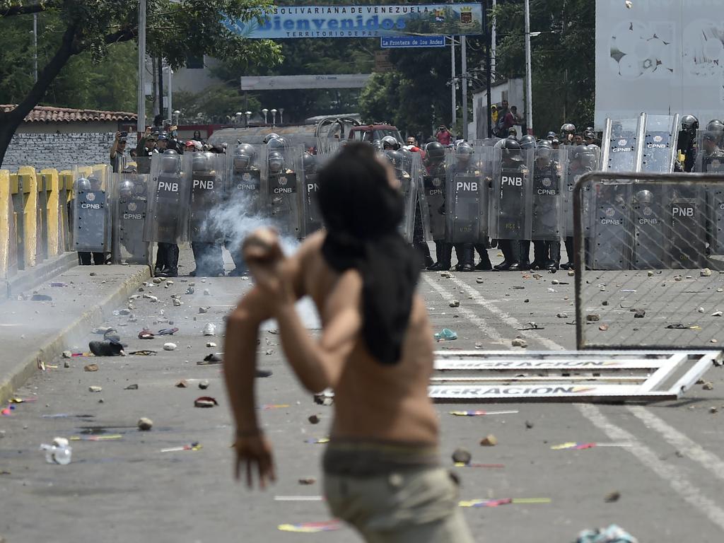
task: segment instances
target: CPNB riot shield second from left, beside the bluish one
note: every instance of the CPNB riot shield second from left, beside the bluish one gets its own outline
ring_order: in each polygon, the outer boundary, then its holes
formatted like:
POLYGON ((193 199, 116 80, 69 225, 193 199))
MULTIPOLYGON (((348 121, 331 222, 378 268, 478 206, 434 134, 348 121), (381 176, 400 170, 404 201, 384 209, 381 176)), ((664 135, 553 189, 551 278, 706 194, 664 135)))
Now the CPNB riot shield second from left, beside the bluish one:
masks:
POLYGON ((148 214, 149 174, 139 174, 131 168, 112 174, 113 195, 113 264, 151 264, 151 243, 146 237, 148 214))

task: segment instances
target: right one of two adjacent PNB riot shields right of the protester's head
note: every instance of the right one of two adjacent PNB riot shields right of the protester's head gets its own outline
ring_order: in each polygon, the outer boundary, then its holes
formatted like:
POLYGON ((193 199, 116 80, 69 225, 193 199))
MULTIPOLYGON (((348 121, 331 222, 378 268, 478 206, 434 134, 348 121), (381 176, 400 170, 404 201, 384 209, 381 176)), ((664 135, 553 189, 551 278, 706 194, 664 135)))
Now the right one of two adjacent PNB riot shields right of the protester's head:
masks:
POLYGON ((535 149, 494 148, 494 177, 490 193, 490 237, 530 240, 535 149))

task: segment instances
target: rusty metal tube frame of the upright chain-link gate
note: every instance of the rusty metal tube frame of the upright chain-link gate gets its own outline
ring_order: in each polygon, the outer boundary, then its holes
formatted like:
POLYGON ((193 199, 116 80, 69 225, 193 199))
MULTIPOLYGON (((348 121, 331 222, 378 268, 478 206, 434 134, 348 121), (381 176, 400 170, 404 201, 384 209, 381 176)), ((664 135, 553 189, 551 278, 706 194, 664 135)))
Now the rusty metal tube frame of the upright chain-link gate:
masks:
MULTIPOLYGON (((653 183, 662 183, 672 185, 677 182, 689 182, 696 185, 706 185, 707 183, 724 184, 724 176, 717 174, 700 174, 700 173, 672 173, 672 174, 656 174, 644 172, 591 172, 585 174, 576 182, 573 188, 573 256, 575 258, 576 274, 574 277, 576 292, 576 349, 578 350, 640 350, 640 345, 613 345, 613 344, 597 344, 586 342, 585 327, 586 316, 584 315, 584 300, 582 294, 584 289, 584 271, 586 258, 584 255, 585 243, 584 232, 586 225, 584 224, 583 214, 583 195, 584 186, 589 183, 602 182, 610 180, 614 182, 620 181, 646 181, 653 183)), ((655 345, 649 347, 652 350, 687 350, 687 351, 711 351, 711 344, 704 345, 655 345)))

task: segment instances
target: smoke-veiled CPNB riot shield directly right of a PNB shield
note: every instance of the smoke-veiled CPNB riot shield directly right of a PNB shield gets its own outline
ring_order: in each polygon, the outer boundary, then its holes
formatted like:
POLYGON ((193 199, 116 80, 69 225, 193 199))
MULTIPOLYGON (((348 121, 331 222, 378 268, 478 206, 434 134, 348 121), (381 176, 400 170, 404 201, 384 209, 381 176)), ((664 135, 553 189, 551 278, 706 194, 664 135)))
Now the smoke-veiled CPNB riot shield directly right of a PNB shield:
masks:
POLYGON ((226 163, 219 222, 224 239, 240 246, 243 237, 266 218, 266 146, 243 143, 229 148, 226 163))

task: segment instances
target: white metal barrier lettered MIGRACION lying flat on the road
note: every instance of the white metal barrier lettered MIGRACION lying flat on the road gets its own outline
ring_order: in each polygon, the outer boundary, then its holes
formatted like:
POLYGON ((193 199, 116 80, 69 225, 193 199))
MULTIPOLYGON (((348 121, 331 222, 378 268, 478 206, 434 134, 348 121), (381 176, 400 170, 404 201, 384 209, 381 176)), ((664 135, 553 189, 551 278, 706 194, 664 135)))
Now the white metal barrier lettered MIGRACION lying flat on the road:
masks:
POLYGON ((723 360, 717 350, 438 351, 429 397, 437 403, 676 400, 723 360))

